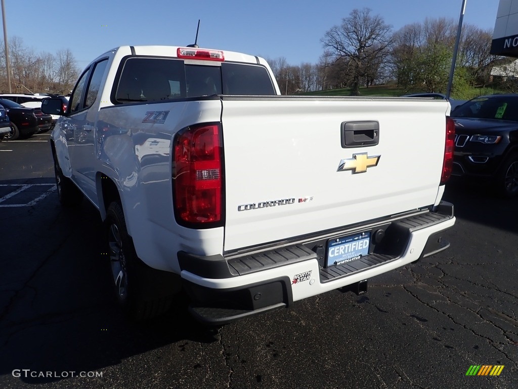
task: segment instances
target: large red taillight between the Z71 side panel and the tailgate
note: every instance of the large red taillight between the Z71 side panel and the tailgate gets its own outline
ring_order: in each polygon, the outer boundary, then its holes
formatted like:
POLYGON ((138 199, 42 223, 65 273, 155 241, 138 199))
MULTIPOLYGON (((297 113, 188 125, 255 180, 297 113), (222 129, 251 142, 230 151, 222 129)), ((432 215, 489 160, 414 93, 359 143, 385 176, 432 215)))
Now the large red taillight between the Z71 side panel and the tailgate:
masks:
POLYGON ((184 129, 175 136, 173 191, 179 224, 222 220, 221 131, 219 123, 184 129))

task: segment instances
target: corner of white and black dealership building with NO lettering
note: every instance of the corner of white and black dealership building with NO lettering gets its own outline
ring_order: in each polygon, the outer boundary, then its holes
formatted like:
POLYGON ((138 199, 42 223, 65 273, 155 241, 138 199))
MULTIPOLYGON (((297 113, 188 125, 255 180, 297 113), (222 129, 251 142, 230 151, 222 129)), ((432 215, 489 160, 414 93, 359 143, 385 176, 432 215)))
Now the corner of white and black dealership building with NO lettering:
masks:
POLYGON ((518 57, 518 0, 500 0, 491 54, 518 57))

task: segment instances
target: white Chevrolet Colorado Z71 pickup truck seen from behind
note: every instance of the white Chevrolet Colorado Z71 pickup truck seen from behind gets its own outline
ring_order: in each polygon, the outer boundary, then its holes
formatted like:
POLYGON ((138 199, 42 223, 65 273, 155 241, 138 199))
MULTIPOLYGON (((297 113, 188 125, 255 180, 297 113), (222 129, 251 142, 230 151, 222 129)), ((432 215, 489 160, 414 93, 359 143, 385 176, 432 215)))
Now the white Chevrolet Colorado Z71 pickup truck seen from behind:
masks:
POLYGON ((124 46, 82 73, 51 135, 57 192, 105 221, 135 317, 183 288, 225 324, 449 246, 447 101, 281 96, 262 58, 124 46))

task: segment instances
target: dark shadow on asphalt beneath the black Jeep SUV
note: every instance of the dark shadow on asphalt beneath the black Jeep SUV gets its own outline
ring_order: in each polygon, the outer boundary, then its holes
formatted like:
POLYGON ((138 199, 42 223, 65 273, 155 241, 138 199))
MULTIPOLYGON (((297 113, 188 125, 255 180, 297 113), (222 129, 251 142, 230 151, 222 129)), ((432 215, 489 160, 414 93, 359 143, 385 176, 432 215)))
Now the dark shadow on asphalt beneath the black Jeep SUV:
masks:
POLYGON ((518 233, 518 198, 500 197, 490 186, 452 180, 443 200, 454 204, 457 218, 518 233))

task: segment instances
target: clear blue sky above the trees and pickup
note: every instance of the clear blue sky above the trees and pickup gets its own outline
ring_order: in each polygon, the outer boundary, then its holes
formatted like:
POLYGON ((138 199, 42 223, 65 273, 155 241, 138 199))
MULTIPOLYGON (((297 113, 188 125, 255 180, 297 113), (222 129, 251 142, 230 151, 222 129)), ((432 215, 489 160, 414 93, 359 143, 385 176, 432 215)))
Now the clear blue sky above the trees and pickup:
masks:
MULTIPOLYGON (((70 49, 81 70, 124 45, 198 46, 290 65, 316 64, 325 32, 368 7, 393 31, 426 18, 458 23, 462 0, 4 0, 7 37, 36 53, 70 49)), ((463 24, 495 26, 498 0, 466 0, 463 24)), ((4 40, 2 36, 0 36, 4 40)))

